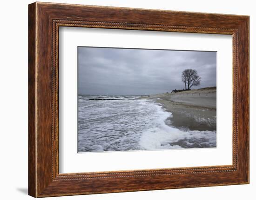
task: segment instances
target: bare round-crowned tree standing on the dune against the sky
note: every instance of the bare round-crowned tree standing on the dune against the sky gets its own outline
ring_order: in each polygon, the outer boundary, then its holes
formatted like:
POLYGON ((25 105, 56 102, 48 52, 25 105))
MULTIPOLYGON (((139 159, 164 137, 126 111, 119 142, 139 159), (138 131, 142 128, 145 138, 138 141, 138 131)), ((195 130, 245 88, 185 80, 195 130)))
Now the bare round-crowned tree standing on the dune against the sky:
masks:
POLYGON ((196 70, 187 69, 182 71, 182 82, 185 84, 185 89, 189 90, 192 86, 200 85, 201 77, 197 75, 196 70))

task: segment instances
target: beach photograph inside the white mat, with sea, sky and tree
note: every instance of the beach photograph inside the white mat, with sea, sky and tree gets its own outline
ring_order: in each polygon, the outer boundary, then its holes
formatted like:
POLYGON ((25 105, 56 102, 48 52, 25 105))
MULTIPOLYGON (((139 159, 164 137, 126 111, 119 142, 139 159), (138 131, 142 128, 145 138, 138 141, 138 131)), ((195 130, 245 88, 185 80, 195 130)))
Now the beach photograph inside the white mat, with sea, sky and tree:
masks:
POLYGON ((78 153, 216 148, 216 52, 78 47, 78 153))

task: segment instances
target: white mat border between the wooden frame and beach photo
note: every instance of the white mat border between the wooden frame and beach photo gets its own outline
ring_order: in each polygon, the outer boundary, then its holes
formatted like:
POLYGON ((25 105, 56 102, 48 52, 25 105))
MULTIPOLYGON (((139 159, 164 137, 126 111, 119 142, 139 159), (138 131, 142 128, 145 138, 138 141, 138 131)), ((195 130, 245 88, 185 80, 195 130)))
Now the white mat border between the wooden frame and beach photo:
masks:
POLYGON ((231 35, 61 27, 59 39, 60 173, 232 164, 231 35), (216 51, 217 148, 78 154, 77 46, 216 51))

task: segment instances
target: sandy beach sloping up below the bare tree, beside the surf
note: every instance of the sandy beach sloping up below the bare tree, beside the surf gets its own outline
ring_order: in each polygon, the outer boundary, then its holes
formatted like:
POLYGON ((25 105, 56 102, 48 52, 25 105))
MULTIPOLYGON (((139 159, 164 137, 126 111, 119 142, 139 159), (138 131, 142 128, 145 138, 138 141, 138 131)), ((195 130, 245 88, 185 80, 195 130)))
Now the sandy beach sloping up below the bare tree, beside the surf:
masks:
POLYGON ((216 88, 157 94, 149 98, 156 98, 172 113, 167 121, 170 126, 184 130, 216 130, 216 88))

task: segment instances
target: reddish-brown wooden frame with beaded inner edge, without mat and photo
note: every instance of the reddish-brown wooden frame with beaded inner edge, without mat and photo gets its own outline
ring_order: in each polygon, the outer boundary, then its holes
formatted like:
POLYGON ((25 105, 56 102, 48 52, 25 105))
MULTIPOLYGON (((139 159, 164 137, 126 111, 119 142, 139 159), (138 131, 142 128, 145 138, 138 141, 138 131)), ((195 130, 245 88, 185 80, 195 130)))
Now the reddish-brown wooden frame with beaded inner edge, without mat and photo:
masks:
POLYGON ((38 2, 28 7, 29 195, 47 197, 249 183, 249 16, 38 2), (60 26, 232 35, 233 164, 59 174, 60 26))

